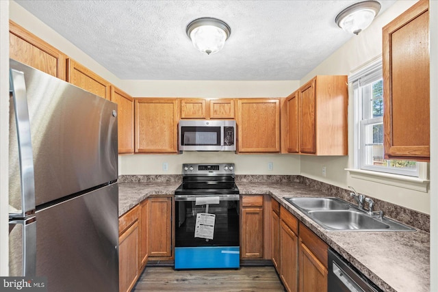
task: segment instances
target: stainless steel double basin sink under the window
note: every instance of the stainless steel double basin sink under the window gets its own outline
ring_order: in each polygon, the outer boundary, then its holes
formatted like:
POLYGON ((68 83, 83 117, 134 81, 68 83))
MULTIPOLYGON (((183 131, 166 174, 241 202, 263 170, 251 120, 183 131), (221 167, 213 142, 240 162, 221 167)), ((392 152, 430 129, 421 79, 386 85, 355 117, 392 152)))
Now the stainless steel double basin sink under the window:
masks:
POLYGON ((339 198, 285 198, 325 230, 331 231, 415 231, 387 217, 369 215, 365 210, 339 198))

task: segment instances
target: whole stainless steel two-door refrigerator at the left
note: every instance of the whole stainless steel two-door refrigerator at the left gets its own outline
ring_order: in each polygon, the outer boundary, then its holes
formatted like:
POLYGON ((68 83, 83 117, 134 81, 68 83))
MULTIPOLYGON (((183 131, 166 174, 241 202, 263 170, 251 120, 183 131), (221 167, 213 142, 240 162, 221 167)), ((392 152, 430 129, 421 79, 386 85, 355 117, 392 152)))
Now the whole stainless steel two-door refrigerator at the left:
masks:
POLYGON ((118 291, 117 106, 10 60, 10 276, 118 291))

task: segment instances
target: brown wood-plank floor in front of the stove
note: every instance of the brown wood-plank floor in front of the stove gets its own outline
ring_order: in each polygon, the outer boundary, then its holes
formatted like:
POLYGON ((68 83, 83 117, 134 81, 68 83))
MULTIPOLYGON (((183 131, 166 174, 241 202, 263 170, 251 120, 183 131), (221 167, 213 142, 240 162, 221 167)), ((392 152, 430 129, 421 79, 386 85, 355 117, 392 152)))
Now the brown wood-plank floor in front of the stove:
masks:
POLYGON ((172 267, 146 267, 132 291, 283 292, 285 289, 274 267, 182 271, 172 267))

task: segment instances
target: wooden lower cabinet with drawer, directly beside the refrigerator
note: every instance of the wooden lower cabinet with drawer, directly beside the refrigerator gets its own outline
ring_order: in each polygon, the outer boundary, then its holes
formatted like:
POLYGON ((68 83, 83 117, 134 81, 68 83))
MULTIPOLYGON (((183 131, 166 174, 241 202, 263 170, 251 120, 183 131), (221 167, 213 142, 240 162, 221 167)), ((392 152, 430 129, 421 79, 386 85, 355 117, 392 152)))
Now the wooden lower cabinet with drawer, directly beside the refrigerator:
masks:
POLYGON ((119 291, 131 291, 140 275, 138 207, 134 207, 118 220, 118 271, 119 291))

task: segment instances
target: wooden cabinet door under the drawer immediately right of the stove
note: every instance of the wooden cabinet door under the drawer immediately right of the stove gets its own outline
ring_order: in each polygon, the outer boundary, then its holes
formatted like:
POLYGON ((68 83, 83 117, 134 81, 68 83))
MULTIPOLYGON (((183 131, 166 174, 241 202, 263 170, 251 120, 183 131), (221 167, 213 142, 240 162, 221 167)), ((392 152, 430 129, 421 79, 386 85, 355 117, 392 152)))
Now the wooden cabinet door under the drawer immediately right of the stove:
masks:
POLYGON ((242 258, 263 258, 263 208, 243 208, 242 258))

